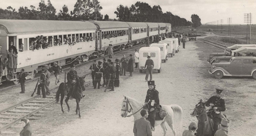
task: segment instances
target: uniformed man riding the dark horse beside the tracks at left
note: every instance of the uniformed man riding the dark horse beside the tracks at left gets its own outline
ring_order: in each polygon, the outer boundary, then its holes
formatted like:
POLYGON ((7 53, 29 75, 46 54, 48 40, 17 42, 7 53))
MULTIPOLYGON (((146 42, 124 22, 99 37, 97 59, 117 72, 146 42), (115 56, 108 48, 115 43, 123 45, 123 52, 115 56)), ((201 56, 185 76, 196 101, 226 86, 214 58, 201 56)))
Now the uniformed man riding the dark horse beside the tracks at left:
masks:
POLYGON ((71 93, 70 99, 72 99, 72 92, 74 91, 73 86, 75 85, 76 81, 78 81, 79 79, 75 69, 76 69, 75 64, 71 64, 70 71, 67 73, 67 86, 68 86, 67 90, 68 92, 70 91, 71 93))

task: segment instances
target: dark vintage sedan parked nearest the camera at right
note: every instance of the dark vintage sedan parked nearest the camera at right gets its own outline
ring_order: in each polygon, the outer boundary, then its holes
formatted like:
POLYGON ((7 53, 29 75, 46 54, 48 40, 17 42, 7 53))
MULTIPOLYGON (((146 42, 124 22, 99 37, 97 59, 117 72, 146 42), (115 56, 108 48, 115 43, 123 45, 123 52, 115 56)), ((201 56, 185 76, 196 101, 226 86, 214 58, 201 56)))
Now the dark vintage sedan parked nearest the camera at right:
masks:
POLYGON ((232 57, 229 62, 213 63, 210 74, 215 78, 223 76, 252 76, 256 79, 256 57, 232 57))

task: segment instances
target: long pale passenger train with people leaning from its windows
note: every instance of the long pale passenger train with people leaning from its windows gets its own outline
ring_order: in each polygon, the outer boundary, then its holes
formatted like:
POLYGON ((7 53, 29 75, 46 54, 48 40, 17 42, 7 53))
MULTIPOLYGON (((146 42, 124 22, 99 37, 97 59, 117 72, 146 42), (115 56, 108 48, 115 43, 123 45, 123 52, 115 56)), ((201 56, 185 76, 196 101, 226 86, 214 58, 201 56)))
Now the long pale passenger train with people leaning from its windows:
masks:
POLYGON ((22 68, 28 73, 27 78, 33 79, 42 65, 84 62, 104 55, 109 44, 115 50, 122 50, 147 37, 169 32, 169 23, 0 20, 0 54, 3 61, 10 45, 18 50, 17 65, 12 72, 8 70, 9 79, 18 83, 22 68))

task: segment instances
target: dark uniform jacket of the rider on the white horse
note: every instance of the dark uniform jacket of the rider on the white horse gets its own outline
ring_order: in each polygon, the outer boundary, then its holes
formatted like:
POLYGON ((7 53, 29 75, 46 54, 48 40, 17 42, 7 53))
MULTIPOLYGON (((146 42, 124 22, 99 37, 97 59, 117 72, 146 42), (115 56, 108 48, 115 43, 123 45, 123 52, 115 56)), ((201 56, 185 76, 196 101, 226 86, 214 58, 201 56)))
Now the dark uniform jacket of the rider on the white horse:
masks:
POLYGON ((148 89, 145 102, 148 102, 148 105, 150 106, 150 108, 160 108, 158 91, 156 89, 152 89, 152 90, 148 89), (155 100, 154 106, 151 106, 152 100, 155 100))

